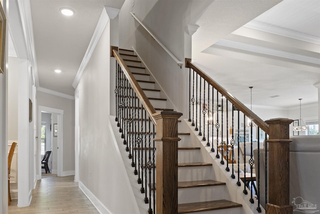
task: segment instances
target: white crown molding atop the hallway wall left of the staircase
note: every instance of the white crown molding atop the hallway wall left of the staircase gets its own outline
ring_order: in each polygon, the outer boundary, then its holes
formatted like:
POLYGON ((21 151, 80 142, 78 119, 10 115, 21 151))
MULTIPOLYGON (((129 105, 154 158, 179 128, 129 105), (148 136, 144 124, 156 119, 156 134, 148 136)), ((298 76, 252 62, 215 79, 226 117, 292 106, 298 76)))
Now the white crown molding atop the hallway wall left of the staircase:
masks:
POLYGON ((102 13, 100 15, 100 18, 98 20, 98 23, 96 24, 95 30, 93 32, 89 46, 86 49, 86 52, 84 54, 84 57, 83 57, 82 62, 80 64, 80 67, 78 69, 78 72, 76 73, 75 78, 72 82, 73 88, 77 87, 77 85, 82 77, 83 71, 86 68, 86 66, 92 56, 92 53, 95 49, 96 44, 100 40, 100 37, 104 31, 106 24, 108 23, 108 21, 110 19, 114 19, 118 15, 119 12, 120 12, 120 10, 115 9, 115 8, 110 8, 110 7, 103 8, 102 13))

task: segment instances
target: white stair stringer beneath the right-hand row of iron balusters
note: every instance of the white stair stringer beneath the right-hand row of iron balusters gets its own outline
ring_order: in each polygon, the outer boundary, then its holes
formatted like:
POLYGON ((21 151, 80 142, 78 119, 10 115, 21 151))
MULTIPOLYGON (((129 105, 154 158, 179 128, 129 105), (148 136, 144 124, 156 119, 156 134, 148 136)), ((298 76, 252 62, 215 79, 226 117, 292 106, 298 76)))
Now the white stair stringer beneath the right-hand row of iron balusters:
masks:
MULTIPOLYGON (((220 164, 220 159, 217 159, 215 157, 216 152, 211 152, 211 146, 210 147, 206 146, 207 141, 202 141, 202 136, 198 136, 198 131, 194 130, 194 126, 191 126, 190 122, 188 122, 187 119, 181 120, 181 124, 183 124, 184 127, 185 125, 188 127, 189 129, 188 132, 190 131, 190 138, 191 138, 190 141, 193 141, 193 144, 195 144, 196 146, 200 146, 200 153, 202 155, 203 161, 207 163, 212 163, 213 172, 214 172, 213 174, 215 176, 212 179, 226 183, 225 190, 227 192, 225 193, 225 195, 229 195, 230 197, 226 199, 242 204, 242 210, 243 210, 243 213, 245 214, 249 214, 249 213, 257 214, 258 213, 256 210, 257 200, 254 199, 254 203, 249 202, 250 191, 247 189, 248 194, 247 195, 243 194, 242 190, 243 190, 244 183, 241 182, 241 186, 238 186, 236 184, 237 177, 235 177, 235 179, 231 178, 230 164, 229 164, 230 171, 229 172, 225 171, 226 165, 220 164)), ((216 151, 216 146, 214 146, 214 149, 216 151)), ((265 210, 263 209, 262 206, 260 207, 261 207, 260 213, 264 214, 265 210)))

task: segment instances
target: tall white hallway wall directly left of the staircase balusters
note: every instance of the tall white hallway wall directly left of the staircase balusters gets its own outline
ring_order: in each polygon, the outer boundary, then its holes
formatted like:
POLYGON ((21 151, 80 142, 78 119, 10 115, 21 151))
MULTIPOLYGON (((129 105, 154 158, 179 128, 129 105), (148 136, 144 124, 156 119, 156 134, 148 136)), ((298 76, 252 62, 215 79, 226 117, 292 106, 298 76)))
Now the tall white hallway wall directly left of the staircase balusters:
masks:
POLYGON ((112 81, 109 72, 115 65, 114 58, 110 60, 109 47, 117 46, 110 44, 111 31, 115 31, 110 26, 113 25, 108 21, 76 89, 79 90, 79 185, 85 186, 82 189, 86 194, 94 195, 95 201, 100 202, 95 205, 101 205, 101 213, 124 214, 132 213, 136 202, 128 194, 131 186, 122 173, 124 166, 120 164, 121 156, 108 126, 112 81))

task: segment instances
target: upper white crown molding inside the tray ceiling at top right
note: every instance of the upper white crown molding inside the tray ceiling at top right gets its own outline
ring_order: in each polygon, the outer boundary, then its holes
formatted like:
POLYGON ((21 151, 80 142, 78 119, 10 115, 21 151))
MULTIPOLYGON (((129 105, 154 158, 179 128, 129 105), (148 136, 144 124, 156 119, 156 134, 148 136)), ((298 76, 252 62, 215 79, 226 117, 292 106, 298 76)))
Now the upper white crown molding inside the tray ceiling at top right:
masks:
POLYGON ((280 28, 273 25, 268 25, 258 21, 251 21, 245 24, 243 27, 320 45, 319 37, 303 34, 301 32, 292 31, 289 29, 280 28))

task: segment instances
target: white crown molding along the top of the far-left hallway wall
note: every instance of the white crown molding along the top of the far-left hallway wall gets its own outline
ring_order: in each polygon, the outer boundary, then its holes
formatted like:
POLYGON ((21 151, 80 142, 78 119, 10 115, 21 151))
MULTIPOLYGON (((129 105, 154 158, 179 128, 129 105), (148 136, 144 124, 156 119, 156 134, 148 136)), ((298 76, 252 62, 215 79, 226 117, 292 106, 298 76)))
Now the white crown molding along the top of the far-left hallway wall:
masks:
POLYGON ((34 49, 34 38, 33 38, 33 26, 32 26, 32 17, 31 17, 31 7, 29 0, 17 0, 22 29, 27 49, 27 54, 29 55, 29 60, 32 67, 32 73, 34 78, 34 83, 36 87, 39 87, 39 77, 35 57, 34 49))

